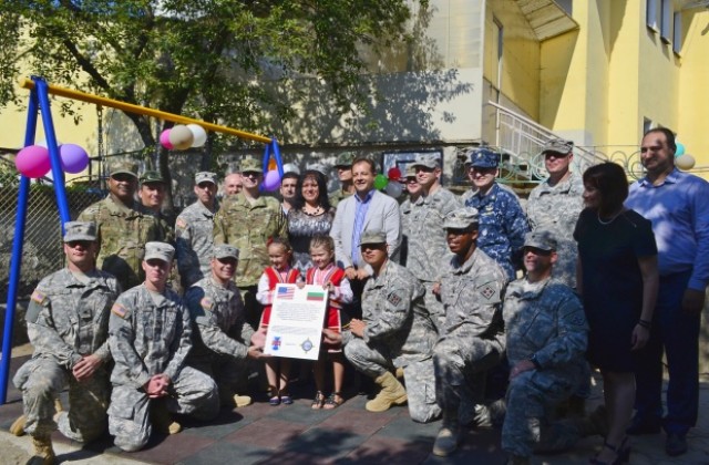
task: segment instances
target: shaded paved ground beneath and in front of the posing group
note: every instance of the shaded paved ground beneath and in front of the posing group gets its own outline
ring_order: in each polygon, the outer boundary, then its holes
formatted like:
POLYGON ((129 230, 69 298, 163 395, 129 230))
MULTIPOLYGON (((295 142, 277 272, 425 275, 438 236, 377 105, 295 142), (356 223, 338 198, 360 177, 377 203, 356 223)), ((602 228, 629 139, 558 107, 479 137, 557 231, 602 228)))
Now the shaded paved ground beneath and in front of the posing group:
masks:
MULTIPOLYGON (((12 360, 12 371, 27 360, 12 360)), ((595 379, 598 381, 598 378, 595 379)), ((709 464, 709 376, 701 380, 700 422, 689 437, 689 453, 670 458, 665 455, 662 435, 633 440, 633 464, 709 464)), ((311 386, 294 386, 296 402, 277 407, 268 405, 266 396, 254 405, 223 411, 208 424, 184 423, 184 431, 167 437, 153 437, 137 453, 124 453, 113 446, 110 436, 86 445, 71 443, 54 435, 60 463, 81 464, 502 464, 500 431, 466 431, 464 444, 453 456, 442 459, 431 455, 440 422, 418 424, 409 418, 404 407, 384 413, 363 409, 366 396, 358 395, 332 411, 310 409, 311 386), (299 396, 299 394, 302 394, 299 396), (306 397, 307 395, 307 397, 306 397)), ((589 405, 600 402, 600 386, 595 383, 589 405)), ((8 403, 0 406, 0 464, 25 463, 31 451, 29 437, 8 433, 12 421, 21 413, 20 393, 11 388, 8 403)), ((586 438, 572 452, 536 456, 535 464, 587 464, 599 437, 586 438)))

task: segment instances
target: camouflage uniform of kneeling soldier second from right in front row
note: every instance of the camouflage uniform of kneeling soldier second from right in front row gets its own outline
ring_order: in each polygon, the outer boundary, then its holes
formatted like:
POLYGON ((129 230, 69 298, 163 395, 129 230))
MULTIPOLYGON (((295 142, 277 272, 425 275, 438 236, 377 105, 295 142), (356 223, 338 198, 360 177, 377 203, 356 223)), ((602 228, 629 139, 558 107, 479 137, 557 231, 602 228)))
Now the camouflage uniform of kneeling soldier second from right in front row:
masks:
MULTIPOLYGON (((464 264, 453 257, 441 277, 445 330, 433 349, 436 400, 444 417, 461 403, 480 403, 485 372, 504 354, 502 294, 506 273, 475 249, 464 264)), ((453 413, 455 412, 455 413, 453 413)))

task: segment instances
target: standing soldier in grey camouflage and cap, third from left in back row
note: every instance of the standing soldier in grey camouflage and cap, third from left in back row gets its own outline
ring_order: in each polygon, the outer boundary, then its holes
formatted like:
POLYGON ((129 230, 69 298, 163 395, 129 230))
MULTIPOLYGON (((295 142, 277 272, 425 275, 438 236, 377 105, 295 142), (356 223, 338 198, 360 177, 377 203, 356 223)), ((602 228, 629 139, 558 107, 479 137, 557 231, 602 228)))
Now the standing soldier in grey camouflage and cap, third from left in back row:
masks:
MULTIPOLYGON (((239 175, 240 178, 240 175, 239 175)), ((195 175, 197 202, 182 210, 175 221, 175 257, 186 290, 212 273, 214 216, 219 209, 216 200, 217 175, 199 172, 195 175)))

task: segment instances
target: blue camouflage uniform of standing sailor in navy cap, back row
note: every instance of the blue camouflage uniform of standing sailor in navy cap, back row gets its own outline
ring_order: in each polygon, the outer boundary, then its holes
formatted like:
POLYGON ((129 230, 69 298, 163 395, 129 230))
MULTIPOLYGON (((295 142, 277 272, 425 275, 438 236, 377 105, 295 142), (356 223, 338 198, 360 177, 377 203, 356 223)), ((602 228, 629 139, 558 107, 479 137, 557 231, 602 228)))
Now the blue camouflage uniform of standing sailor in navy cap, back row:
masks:
POLYGON ((487 195, 475 194, 465 206, 480 214, 477 247, 504 268, 507 279, 515 279, 524 235, 530 230, 520 200, 495 183, 487 195))

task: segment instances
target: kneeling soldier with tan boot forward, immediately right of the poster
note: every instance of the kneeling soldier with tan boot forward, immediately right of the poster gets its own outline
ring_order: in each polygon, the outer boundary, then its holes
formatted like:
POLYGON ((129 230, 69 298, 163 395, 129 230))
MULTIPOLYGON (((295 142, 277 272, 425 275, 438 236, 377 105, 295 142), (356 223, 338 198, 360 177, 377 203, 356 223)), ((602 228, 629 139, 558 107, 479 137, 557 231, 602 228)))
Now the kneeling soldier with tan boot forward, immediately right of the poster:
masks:
POLYGON ((382 388, 366 407, 383 412, 408 400, 412 420, 434 420, 440 415, 431 359, 436 333, 423 303, 423 286, 389 259, 384 232, 362 232, 360 246, 374 275, 362 292, 362 320, 353 319, 342 338, 345 356, 382 388), (399 368, 405 389, 390 371, 399 368))

